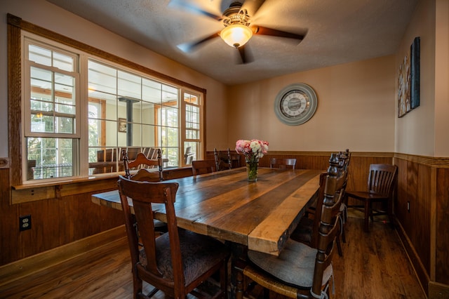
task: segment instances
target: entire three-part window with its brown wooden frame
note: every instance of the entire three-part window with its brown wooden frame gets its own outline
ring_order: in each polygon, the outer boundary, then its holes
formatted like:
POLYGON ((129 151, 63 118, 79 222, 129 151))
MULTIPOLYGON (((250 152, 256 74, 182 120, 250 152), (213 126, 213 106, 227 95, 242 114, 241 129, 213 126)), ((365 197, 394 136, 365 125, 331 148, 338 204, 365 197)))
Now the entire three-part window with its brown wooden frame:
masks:
MULTIPOLYGON (((19 24, 10 18, 8 25, 19 24)), ((14 109, 20 115, 10 144, 22 147, 11 150, 13 185, 122 171, 123 149, 133 159, 159 147, 166 168, 192 161, 185 159, 187 146, 201 158, 205 90, 27 22, 20 26, 27 30, 11 26, 18 38, 8 43, 23 48, 23 79, 8 87, 10 102, 21 98, 10 105, 10 115, 14 109), (22 136, 14 138, 18 131, 22 136)), ((15 56, 8 59, 13 81, 20 70, 11 67, 15 56)))

